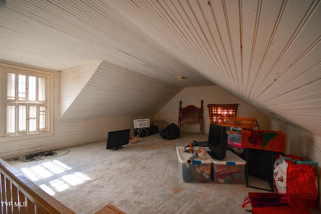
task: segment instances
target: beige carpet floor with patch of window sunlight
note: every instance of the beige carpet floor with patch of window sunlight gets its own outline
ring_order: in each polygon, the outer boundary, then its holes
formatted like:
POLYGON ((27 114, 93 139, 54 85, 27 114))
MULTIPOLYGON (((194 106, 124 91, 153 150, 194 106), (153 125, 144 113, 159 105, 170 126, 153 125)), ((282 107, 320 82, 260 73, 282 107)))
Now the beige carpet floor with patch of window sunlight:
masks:
MULTIPOLYGON (((182 132, 164 140, 157 133, 119 150, 106 150, 106 142, 99 142, 68 148, 67 154, 56 150, 58 155, 48 159, 7 162, 79 214, 110 203, 128 214, 249 213, 241 206, 248 192, 264 191, 245 183, 183 182, 176 147, 207 137, 182 132)), ((268 188, 266 181, 254 183, 268 188)))

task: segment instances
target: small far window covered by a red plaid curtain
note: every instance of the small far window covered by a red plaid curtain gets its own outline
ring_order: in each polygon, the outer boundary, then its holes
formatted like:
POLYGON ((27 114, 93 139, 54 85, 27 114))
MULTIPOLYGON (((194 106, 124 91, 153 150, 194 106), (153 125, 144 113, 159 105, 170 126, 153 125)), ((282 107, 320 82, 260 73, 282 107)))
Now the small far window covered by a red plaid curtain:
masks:
POLYGON ((236 117, 239 104, 208 104, 210 123, 218 123, 220 117, 236 117))

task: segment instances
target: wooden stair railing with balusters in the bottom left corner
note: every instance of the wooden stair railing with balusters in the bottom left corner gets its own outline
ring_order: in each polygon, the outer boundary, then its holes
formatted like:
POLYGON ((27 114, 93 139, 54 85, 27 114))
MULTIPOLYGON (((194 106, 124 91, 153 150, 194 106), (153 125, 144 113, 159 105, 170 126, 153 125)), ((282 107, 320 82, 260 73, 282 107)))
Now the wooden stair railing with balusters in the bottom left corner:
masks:
POLYGON ((1 213, 75 213, 0 158, 1 213))

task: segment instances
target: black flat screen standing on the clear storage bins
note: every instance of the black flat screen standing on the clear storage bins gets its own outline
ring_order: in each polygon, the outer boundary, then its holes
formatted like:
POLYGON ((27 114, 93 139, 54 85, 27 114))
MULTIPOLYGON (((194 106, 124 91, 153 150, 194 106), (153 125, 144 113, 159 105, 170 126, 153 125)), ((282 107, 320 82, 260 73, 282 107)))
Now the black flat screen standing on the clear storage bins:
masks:
POLYGON ((209 130, 208 147, 209 155, 218 160, 223 160, 227 149, 226 127, 211 123, 209 130))

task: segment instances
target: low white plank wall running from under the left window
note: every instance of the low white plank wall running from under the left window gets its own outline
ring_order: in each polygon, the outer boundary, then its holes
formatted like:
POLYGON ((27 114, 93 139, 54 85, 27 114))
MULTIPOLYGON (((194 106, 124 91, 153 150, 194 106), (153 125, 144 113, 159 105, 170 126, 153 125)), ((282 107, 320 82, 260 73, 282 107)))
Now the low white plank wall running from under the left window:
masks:
MULTIPOLYGON (((106 141, 108 131, 131 129, 133 120, 139 118, 154 119, 153 114, 134 116, 110 115, 94 119, 61 119, 60 117, 60 72, 54 72, 54 130, 53 135, 10 136, 0 138, 0 157, 9 159, 25 156, 38 148, 43 151, 66 148, 75 145, 106 141)), ((102 148, 105 149, 105 148, 102 148)))

